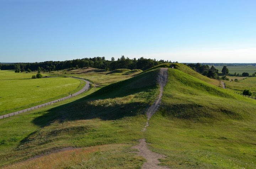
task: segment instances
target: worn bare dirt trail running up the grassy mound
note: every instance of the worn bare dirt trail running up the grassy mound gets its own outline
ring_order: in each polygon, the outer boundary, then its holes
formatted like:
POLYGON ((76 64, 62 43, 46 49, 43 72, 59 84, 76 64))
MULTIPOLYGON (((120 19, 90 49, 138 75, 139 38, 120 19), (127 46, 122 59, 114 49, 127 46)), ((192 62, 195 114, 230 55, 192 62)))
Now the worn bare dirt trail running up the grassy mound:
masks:
MULTIPOLYGON (((149 120, 153 116, 153 114, 158 110, 158 107, 160 106, 161 103, 161 98, 162 98, 162 92, 164 89, 164 86, 166 85, 167 78, 168 78, 168 73, 167 73, 168 68, 161 68, 159 75, 158 75, 158 83, 160 85, 160 93, 158 95, 158 98, 154 102, 152 106, 149 107, 148 112, 147 112, 147 117, 148 120, 146 122, 145 127, 142 129, 142 131, 146 131, 146 127, 149 126, 149 120)), ((168 167, 158 165, 160 162, 158 159, 165 158, 165 156, 162 156, 161 154, 152 152, 149 150, 146 139, 140 139, 139 144, 136 146, 133 146, 132 148, 138 149, 139 156, 144 157, 147 161, 143 164, 142 169, 168 169, 168 167)))

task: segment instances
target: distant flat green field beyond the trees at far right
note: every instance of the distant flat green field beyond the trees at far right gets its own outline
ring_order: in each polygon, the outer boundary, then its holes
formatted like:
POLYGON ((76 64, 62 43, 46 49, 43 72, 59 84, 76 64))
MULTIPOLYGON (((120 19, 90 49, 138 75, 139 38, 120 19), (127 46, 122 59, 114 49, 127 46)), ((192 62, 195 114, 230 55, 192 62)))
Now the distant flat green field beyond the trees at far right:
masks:
MULTIPOLYGON (((214 66, 214 67, 219 70, 219 73, 222 73, 221 71, 223 66, 214 66)), ((256 72, 256 66, 227 66, 227 68, 229 69, 230 74, 239 73, 240 75, 242 75, 242 73, 247 72, 250 75, 252 75, 252 73, 256 72)))

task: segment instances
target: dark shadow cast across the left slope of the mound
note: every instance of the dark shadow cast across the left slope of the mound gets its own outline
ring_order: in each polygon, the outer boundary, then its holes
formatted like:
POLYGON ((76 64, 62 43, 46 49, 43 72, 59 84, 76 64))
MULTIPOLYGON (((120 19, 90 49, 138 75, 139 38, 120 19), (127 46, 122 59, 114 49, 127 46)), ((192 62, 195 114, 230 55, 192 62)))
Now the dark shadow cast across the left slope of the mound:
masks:
POLYGON ((122 98, 117 102, 114 98, 137 95, 142 99, 151 97, 150 91, 157 88, 156 75, 158 71, 147 72, 146 74, 136 76, 124 81, 120 81, 86 96, 79 100, 49 109, 47 113, 33 120, 38 126, 47 126, 54 121, 73 121, 81 119, 100 118, 102 120, 116 120, 123 117, 136 116, 143 113, 143 109, 149 106, 149 103, 139 101, 127 101, 122 98), (105 99, 114 99, 109 102, 105 99), (103 101, 103 104, 97 104, 93 101, 103 101))

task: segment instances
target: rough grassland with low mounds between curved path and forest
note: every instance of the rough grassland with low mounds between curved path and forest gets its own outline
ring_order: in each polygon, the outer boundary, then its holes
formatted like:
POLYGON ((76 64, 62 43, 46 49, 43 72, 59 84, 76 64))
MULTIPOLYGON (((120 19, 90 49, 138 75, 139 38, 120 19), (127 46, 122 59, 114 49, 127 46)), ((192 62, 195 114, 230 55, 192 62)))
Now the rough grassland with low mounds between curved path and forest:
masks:
POLYGON ((85 78, 92 81, 97 85, 109 85, 117 81, 129 79, 134 75, 142 72, 141 70, 130 70, 130 69, 116 69, 112 72, 95 69, 95 68, 79 68, 74 70, 54 71, 57 75, 74 76, 78 78, 85 78))

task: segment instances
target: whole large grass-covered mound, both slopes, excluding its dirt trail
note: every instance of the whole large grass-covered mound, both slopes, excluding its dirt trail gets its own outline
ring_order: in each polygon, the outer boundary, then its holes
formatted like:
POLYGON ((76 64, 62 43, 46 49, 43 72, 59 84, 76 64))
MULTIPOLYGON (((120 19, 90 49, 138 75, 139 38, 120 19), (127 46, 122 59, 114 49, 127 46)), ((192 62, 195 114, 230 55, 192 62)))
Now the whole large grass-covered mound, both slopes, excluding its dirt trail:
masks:
POLYGON ((152 151, 166 156, 161 165, 170 168, 254 168, 256 101, 218 83, 183 64, 168 63, 93 88, 79 100, 2 120, 0 163, 87 147, 8 167, 140 168, 144 159, 131 147, 145 138, 152 151), (172 66, 161 106, 144 133, 146 108, 159 93, 158 68, 172 66))

